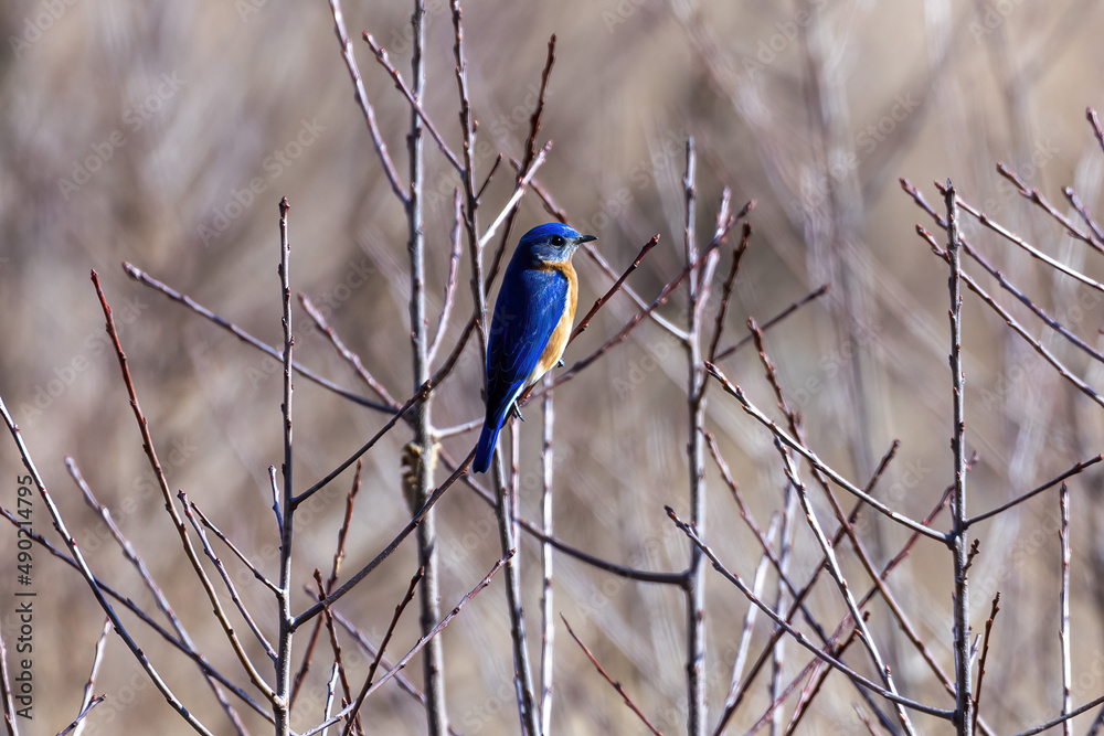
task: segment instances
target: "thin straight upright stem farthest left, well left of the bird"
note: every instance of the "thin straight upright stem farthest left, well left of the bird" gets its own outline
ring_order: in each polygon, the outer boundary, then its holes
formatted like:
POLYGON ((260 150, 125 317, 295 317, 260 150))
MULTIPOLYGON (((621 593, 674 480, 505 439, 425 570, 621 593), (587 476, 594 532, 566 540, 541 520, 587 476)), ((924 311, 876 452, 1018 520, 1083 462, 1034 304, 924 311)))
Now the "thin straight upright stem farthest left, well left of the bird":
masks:
POLYGON ((284 302, 284 401, 280 412, 284 417, 284 489, 280 503, 279 542, 279 641, 276 649, 276 694, 273 708, 276 716, 276 733, 288 736, 291 730, 291 636, 295 633, 295 616, 291 614, 291 522, 295 498, 291 487, 291 286, 288 277, 288 260, 291 246, 287 237, 287 198, 279 202, 279 281, 280 298, 284 302))

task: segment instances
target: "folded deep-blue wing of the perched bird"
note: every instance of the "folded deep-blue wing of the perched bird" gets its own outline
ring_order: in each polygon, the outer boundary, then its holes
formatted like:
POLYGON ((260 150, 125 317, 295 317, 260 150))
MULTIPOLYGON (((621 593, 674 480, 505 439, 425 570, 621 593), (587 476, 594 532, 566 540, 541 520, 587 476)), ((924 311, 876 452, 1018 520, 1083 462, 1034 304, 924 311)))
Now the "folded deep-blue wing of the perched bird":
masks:
POLYGON ((563 318, 567 278, 555 269, 510 273, 502 285, 487 345, 487 418, 500 424, 563 318))

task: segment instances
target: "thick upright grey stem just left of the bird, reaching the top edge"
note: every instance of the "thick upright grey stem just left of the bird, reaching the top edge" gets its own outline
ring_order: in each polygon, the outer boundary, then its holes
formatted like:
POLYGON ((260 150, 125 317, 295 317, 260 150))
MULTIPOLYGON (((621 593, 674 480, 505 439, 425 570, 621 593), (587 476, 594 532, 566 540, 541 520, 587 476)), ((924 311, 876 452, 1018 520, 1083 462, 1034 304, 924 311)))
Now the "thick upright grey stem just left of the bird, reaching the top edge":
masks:
MULTIPOLYGON (((414 0, 411 24, 414 30, 414 54, 411 60, 411 92, 421 103, 425 87, 425 1, 414 0)), ((425 181, 425 161, 422 139, 422 118, 414 106, 411 108, 411 132, 406 139, 410 152, 411 185, 406 198, 406 220, 408 226, 407 249, 411 259, 411 352, 414 372, 414 390, 429 380, 429 326, 425 313, 425 233, 422 212, 422 190, 425 181)), ((444 317, 443 317, 444 319, 444 317)), ((442 322, 444 323, 444 322, 442 322)), ((414 415, 414 447, 416 455, 415 490, 418 506, 424 506, 434 489, 434 466, 436 465, 436 438, 432 423, 433 391, 431 390, 414 415)), ((422 636, 429 632, 440 619, 439 590, 437 580, 437 529, 436 512, 432 509, 417 526, 418 564, 425 570, 418 584, 422 636)), ((422 652, 425 685, 426 721, 429 736, 444 736, 448 730, 445 710, 444 657, 442 640, 429 639, 422 652)))

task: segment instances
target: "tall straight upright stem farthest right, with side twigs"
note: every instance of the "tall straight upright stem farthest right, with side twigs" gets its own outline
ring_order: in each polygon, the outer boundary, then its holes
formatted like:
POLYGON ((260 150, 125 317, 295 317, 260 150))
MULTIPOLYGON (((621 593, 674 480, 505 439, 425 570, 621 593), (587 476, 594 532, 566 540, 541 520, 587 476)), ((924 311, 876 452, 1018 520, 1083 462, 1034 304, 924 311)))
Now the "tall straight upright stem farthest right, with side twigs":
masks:
POLYGON ((955 727, 958 736, 970 736, 974 732, 974 687, 970 682, 969 657, 969 583, 966 568, 969 566, 969 550, 966 544, 966 450, 963 437, 966 434, 966 397, 963 384, 962 354, 962 252, 958 239, 958 203, 955 188, 947 181, 947 254, 951 260, 951 380, 954 398, 954 428, 951 449, 954 451, 955 490, 954 519, 951 543, 955 557, 955 727))

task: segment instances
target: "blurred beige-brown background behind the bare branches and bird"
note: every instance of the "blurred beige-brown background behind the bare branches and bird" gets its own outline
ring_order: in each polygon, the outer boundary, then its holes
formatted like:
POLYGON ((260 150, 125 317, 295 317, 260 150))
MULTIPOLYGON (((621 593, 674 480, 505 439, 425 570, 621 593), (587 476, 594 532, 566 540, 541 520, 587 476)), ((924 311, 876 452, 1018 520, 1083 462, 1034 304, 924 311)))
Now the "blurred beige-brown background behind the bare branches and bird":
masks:
MULTIPOLYGON (((344 3, 369 97, 403 172, 408 107, 360 33, 372 33, 408 76, 410 12, 408 3, 344 3)), ((492 151, 477 164, 479 180, 498 153, 507 160, 522 154, 548 39, 555 32, 558 58, 539 141, 552 139, 554 147, 538 180, 578 230, 599 236, 602 253, 618 271, 660 234, 659 246, 629 281, 646 300, 681 268, 689 136, 699 154, 702 242, 712 233, 723 186, 731 188, 735 207, 756 200, 750 216, 755 234, 722 346, 746 334, 747 317, 762 322, 830 282, 827 296, 767 333, 767 349, 804 415, 809 445, 856 483, 864 484, 892 440, 901 440, 875 494, 913 518, 923 518, 952 481, 947 281, 945 266, 914 231, 916 223, 933 228, 931 218, 901 191, 898 178, 906 177, 933 204, 942 199, 932 181, 951 178, 964 199, 995 220, 1063 263, 1104 278, 1098 254, 1068 237, 996 171, 997 162, 1006 163, 1062 211, 1061 188, 1072 185, 1091 211, 1104 212, 1104 153, 1084 113, 1104 105, 1098 43, 1104 9, 1096 2, 469 0, 464 21, 479 140, 492 151)), ((447 3, 427 3, 427 22, 425 107, 458 151, 447 3)), ((0 30, 6 39, 0 46, 0 395, 97 574, 153 610, 103 521, 83 503, 65 456, 112 508, 206 655, 244 686, 247 679, 173 538, 88 274, 99 273, 115 308, 169 482, 275 574, 267 467, 278 465, 282 454, 280 369, 131 281, 120 263, 134 263, 277 344, 277 203, 287 196, 293 291, 323 307, 346 343, 399 401, 410 395, 405 215, 353 102, 333 19, 320 0, 11 0, 0 7, 0 30)), ((426 161, 428 310, 435 324, 458 178, 428 139, 426 161)), ((503 164, 484 195, 484 224, 509 198, 512 183, 503 164)), ((511 244, 550 218, 528 194, 511 244)), ((1100 342, 1100 291, 1040 267, 976 223, 965 228, 1040 306, 1090 343, 1100 342)), ((730 258, 726 247, 719 274, 730 258)), ((611 279, 585 256, 576 258, 576 267, 585 309, 611 279)), ((975 264, 968 270, 999 291, 975 264)), ((442 356, 470 314, 469 278, 465 254, 442 356)), ((998 299, 1090 385, 1104 385, 1101 365, 1044 333, 1009 295, 998 299)), ((972 295, 965 300, 967 447, 979 454, 969 504, 980 511, 1100 452, 1102 414, 972 295)), ((680 289, 660 311, 682 323, 684 308, 680 289)), ((710 333, 713 309, 715 301, 707 317, 710 333)), ((569 364, 635 311, 618 295, 569 348, 569 364)), ((360 391, 298 305, 295 319, 297 359, 360 391)), ((439 427, 481 416, 474 345, 438 393, 439 427)), ((721 367, 753 402, 778 416, 752 351, 742 349, 721 367)), ((687 542, 662 509, 670 504, 688 515, 686 373, 681 346, 646 321, 555 392, 558 536, 636 567, 686 566, 687 542)), ((304 380, 296 388, 296 471, 305 488, 386 417, 304 380)), ((540 513, 539 417, 534 402, 521 434, 521 504, 529 519, 540 513)), ((783 506, 785 488, 769 435, 716 386, 710 388, 708 417, 751 511, 766 527, 783 506)), ((365 456, 346 570, 374 556, 408 520, 400 452, 410 439, 410 429, 400 426, 365 456)), ((464 457, 475 439, 468 433, 444 447, 464 457)), ((0 441, 0 503, 14 508, 22 466, 10 441, 0 441)), ((1104 693, 1104 585, 1095 575, 1104 564, 1100 481, 1095 470, 1071 481, 1075 705, 1104 693)), ((298 579, 309 580, 316 566, 329 568, 350 484, 351 472, 297 523, 298 579)), ((712 463, 708 487, 704 536, 733 570, 750 577, 761 552, 712 463)), ((821 506, 830 518, 827 504, 821 506)), ((984 626, 994 593, 1002 596, 981 705, 998 733, 1027 728, 1061 707, 1058 509, 1057 493, 1044 493, 976 529, 981 542, 973 568, 975 631, 984 626)), ((448 610, 500 550, 492 511, 469 490, 452 489, 437 510, 442 606, 448 610)), ((47 531, 41 505, 33 523, 47 531)), ((945 515, 935 522, 940 529, 946 524, 945 515)), ((901 527, 869 515, 860 530, 879 565, 906 538, 901 527)), ((9 666, 18 631, 14 545, 12 530, 0 534, 0 561, 7 561, 0 563, 0 620, 9 666)), ((794 575, 804 580, 820 553, 802 524, 794 545, 794 575)), ((864 593, 869 580, 854 556, 841 555, 852 585, 864 593)), ((532 538, 524 540, 521 561, 533 637, 540 575, 532 538)), ((270 596, 231 566, 258 622, 272 631, 270 596)), ((339 610, 378 642, 415 567, 416 550, 407 542, 339 610)), ((890 582, 933 655, 953 672, 951 556, 921 542, 890 582)), ((443 634, 449 716, 468 736, 518 728, 501 586, 492 584, 443 634)), ((53 734, 78 711, 104 617, 78 575, 39 548, 31 587, 34 719, 20 727, 53 734)), ((774 600, 771 576, 765 589, 774 600)), ((297 595, 301 609, 308 597, 297 595)), ((712 723, 728 692, 746 601, 713 574, 708 596, 712 723)), ((843 614, 827 578, 810 607, 829 630, 843 614)), ((560 557, 555 609, 660 730, 684 730, 684 610, 677 590, 627 583, 560 557)), ((870 609, 901 691, 953 707, 884 605, 875 600, 870 609)), ((229 733, 194 665, 134 617, 125 620, 183 702, 216 733, 229 733)), ((416 616, 408 612, 391 657, 405 652, 417 633, 416 616)), ((554 733, 641 733, 566 632, 558 633, 554 733)), ((769 633, 761 617, 753 657, 769 633)), ((539 637, 534 652, 538 642, 539 637)), ((301 638, 296 643, 301 646, 301 638)), ((362 676, 367 657, 344 643, 351 672, 362 676)), ((259 648, 254 650, 263 660, 259 648)), ((861 654, 856 650, 848 661, 869 673, 861 654)), ((785 673, 793 676, 806 661, 790 643, 785 673)), ((295 724, 299 730, 320 712, 327 662, 320 654, 308 676, 299 706, 305 716, 295 724)), ((420 683, 420 661, 406 674, 420 683)), ((189 733, 117 638, 108 640, 96 690, 107 701, 93 712, 86 734, 189 733)), ((799 733, 863 730, 852 707, 858 701, 849 682, 829 676, 799 733)), ((730 733, 746 730, 768 703, 763 676, 730 733)), ((254 733, 268 729, 247 708, 240 711, 254 733)), ((393 684, 365 704, 364 717, 371 733, 425 728, 422 707, 393 684)), ((1076 728, 1089 728, 1094 717, 1080 717, 1076 728)), ((916 723, 928 733, 948 728, 925 716, 916 723)))

